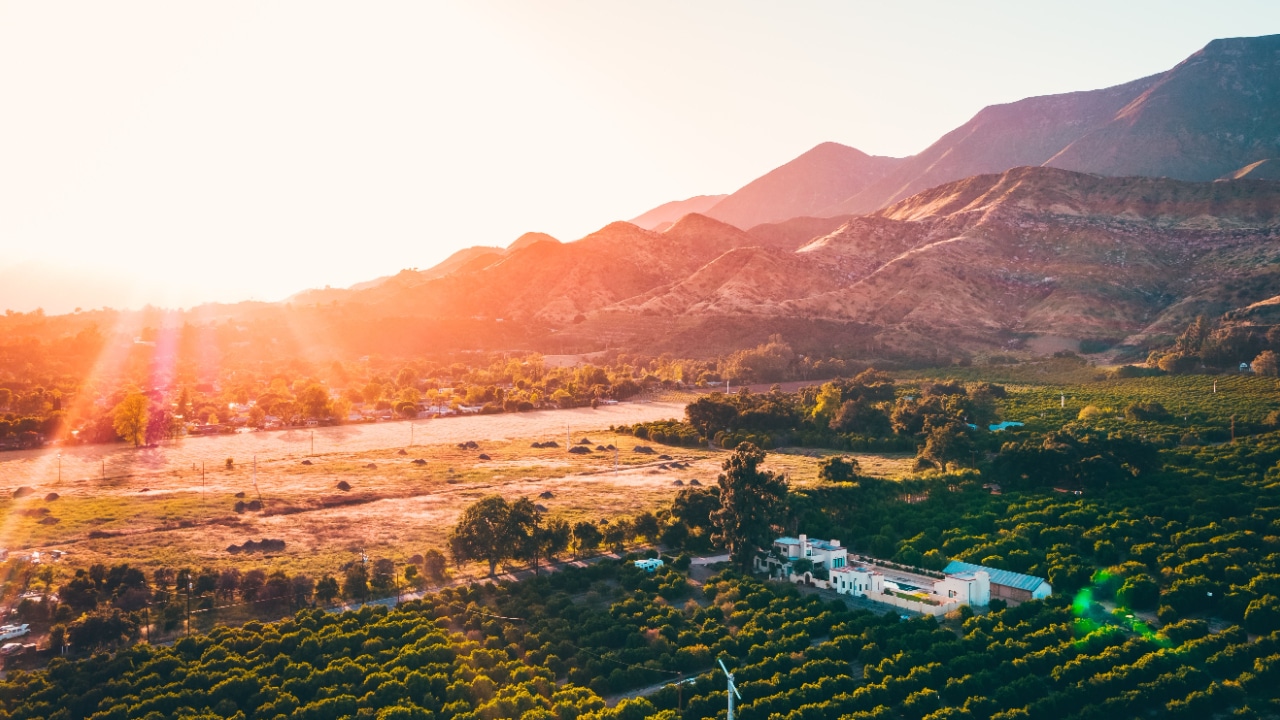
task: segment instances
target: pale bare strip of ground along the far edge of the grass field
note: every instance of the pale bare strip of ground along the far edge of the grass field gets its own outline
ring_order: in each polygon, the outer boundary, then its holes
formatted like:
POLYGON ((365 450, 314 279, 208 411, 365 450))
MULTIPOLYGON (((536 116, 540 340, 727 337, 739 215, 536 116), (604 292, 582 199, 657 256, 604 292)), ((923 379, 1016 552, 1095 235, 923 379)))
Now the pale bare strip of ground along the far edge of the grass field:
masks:
POLYGON ((0 452, 0 487, 36 486, 55 480, 95 479, 189 469, 200 462, 220 465, 228 457, 247 462, 302 457, 315 452, 362 452, 415 445, 454 443, 468 439, 497 441, 545 437, 564 442, 564 428, 596 430, 646 420, 681 418, 678 402, 623 402, 598 409, 538 410, 502 415, 467 415, 435 420, 401 420, 296 428, 276 432, 236 433, 212 437, 187 437, 155 448, 134 450, 127 445, 86 445, 0 452), (60 456, 60 460, 59 460, 60 456))

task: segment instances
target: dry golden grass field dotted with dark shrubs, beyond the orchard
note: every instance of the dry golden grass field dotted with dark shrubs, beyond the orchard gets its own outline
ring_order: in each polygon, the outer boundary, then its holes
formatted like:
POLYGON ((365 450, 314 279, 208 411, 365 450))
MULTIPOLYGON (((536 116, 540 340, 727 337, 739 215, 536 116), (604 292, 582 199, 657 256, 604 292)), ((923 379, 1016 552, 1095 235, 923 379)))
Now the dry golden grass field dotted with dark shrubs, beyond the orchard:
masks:
MULTIPOLYGON (((680 414, 678 407, 662 410, 660 416, 680 414)), ((63 569, 92 562, 237 565, 319 575, 337 571, 361 552, 402 562, 429 548, 443 551, 462 509, 488 493, 527 496, 549 515, 570 521, 600 520, 657 510, 680 489, 676 480, 713 484, 723 460, 722 451, 705 448, 653 445, 653 455, 635 452, 635 438, 589 429, 585 423, 573 430, 575 442, 586 437, 593 448, 617 445, 620 450, 571 455, 563 447, 562 418, 582 420, 584 414, 548 415, 559 425, 554 438, 562 447, 531 447, 535 439, 550 439, 545 421, 532 437, 477 439, 500 434, 484 420, 507 416, 466 418, 448 421, 457 425, 449 428, 447 443, 321 452, 317 442, 315 455, 260 454, 256 471, 248 459, 237 459, 232 468, 206 464, 202 473, 198 465, 174 457, 128 477, 64 477, 60 483, 32 484, 32 493, 13 498, 6 492, 0 501, 0 547, 68 551, 68 561, 59 564, 63 569), (479 447, 458 448, 463 438, 476 439, 479 447), (668 461, 659 459, 662 454, 689 466, 664 466, 668 461), (56 500, 46 500, 51 492, 56 500), (237 502, 260 497, 262 510, 236 510, 237 502), (232 555, 227 550, 264 538, 283 539, 284 551, 232 555)), ((445 425, 436 423, 435 428, 445 425)), ((815 482, 823 455, 782 451, 771 454, 768 465, 805 484, 815 482)), ((908 457, 859 460, 881 475, 902 474, 910 466, 908 457)), ((4 469, 0 464, 0 473, 4 469)))

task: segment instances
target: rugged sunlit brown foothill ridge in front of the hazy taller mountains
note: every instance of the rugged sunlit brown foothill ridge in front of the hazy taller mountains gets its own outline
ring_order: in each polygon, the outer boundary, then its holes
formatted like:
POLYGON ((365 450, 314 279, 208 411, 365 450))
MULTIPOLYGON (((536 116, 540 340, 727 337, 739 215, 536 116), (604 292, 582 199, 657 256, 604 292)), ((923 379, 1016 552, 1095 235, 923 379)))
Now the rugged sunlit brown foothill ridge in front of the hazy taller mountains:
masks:
POLYGON ((826 323, 919 352, 1172 333, 1197 314, 1280 295, 1277 268, 1280 183, 1015 168, 869 215, 750 233, 704 215, 664 232, 613 223, 426 282, 358 291, 347 306, 502 319, 575 347, 604 337, 653 347, 680 331, 696 352, 713 325, 826 323))

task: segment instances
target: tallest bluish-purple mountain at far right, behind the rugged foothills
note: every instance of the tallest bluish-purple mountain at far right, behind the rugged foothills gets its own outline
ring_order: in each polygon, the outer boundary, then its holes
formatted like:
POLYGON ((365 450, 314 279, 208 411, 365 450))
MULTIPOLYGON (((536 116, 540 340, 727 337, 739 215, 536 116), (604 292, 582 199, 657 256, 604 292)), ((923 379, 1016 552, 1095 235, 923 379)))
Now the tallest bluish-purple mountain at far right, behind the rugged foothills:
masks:
POLYGON ((986 108, 824 214, 869 213, 1019 165, 1210 181, 1276 156, 1280 35, 1215 40, 1157 76, 986 108))

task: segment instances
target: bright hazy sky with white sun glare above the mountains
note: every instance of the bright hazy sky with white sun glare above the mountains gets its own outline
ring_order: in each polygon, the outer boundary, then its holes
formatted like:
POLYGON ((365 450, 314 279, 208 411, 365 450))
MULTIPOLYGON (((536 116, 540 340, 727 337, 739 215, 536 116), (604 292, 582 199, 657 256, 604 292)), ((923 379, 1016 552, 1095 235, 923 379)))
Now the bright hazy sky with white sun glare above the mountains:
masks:
POLYGON ((0 309, 276 301, 910 155, 1280 3, 0 0, 0 309))

